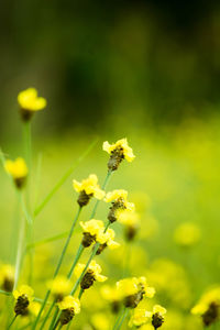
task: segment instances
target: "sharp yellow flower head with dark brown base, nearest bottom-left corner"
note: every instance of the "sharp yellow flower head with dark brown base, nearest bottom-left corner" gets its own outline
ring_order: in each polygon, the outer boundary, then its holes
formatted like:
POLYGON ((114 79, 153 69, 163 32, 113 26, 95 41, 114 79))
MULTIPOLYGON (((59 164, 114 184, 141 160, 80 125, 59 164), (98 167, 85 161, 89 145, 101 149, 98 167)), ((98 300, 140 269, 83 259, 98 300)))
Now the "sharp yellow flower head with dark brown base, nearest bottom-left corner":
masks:
POLYGON ((25 316, 29 314, 29 305, 33 301, 34 290, 28 286, 22 285, 18 290, 13 292, 15 298, 14 312, 16 316, 25 316))

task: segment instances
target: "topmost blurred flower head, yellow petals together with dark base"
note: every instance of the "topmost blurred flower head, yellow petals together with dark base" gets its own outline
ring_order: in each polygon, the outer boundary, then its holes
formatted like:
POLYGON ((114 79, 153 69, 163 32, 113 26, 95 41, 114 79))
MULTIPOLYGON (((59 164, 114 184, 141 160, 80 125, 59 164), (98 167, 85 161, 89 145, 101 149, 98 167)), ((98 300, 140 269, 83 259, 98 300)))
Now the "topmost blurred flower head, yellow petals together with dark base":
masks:
POLYGON ((21 91, 18 96, 18 102, 24 121, 29 121, 36 111, 46 107, 46 100, 37 96, 35 88, 28 88, 21 91))

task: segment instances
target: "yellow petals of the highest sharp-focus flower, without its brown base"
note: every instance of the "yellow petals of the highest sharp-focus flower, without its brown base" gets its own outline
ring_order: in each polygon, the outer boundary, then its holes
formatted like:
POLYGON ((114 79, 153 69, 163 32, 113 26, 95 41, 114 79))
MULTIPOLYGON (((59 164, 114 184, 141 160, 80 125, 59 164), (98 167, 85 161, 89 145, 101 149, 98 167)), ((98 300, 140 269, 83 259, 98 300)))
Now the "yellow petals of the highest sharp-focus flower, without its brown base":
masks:
POLYGON ((128 162, 132 162, 135 158, 132 148, 128 144, 127 139, 121 139, 113 144, 110 144, 108 141, 103 142, 103 151, 106 151, 108 154, 111 154, 114 151, 120 151, 122 156, 128 162))

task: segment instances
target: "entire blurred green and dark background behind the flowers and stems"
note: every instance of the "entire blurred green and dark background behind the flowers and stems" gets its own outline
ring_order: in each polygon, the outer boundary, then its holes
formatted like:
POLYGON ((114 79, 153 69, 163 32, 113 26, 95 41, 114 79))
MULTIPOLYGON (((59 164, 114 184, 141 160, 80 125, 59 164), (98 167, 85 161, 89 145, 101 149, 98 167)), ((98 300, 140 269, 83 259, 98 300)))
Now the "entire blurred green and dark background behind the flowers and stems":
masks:
MULTIPOLYGON (((102 141, 127 136, 136 158, 121 165, 109 189, 128 189, 141 213, 131 275, 144 273, 158 286, 156 301, 169 310, 166 329, 200 329, 189 309, 220 273, 220 6, 196 0, 2 1, 0 28, 0 146, 7 155, 24 155, 18 92, 33 86, 48 102, 33 120, 33 204, 98 136, 36 218, 34 240, 68 230, 77 198, 72 179, 96 173, 102 182, 108 160, 102 141), (174 232, 187 221, 198 226, 201 239, 185 251, 174 232), (160 287, 154 272, 174 285, 160 287), (179 292, 185 294, 179 297, 179 292)), ((0 256, 7 262, 15 196, 3 169, 0 182, 0 256)), ((97 218, 106 216, 102 204, 97 218)), ((117 232, 121 235, 118 224, 117 232)), ((119 258, 111 252, 100 256, 111 283, 121 277, 125 244, 120 240, 119 258)), ((57 241, 36 249, 40 296, 53 272, 44 266, 54 264, 62 246, 57 241)), ((108 329, 95 323, 85 330, 108 329)))

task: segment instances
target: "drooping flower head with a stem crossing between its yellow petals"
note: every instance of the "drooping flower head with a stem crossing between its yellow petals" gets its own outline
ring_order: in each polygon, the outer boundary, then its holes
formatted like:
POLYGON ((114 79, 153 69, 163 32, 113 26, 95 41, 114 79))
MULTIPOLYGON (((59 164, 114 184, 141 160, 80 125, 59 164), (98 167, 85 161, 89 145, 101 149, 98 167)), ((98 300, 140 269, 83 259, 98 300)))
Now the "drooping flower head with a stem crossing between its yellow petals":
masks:
MULTIPOLYGON (((79 277, 84 272, 85 267, 86 267, 85 264, 78 263, 74 271, 75 275, 79 277)), ((97 264, 95 260, 92 260, 80 282, 80 287, 85 290, 90 288, 90 286, 95 283, 95 280, 98 282, 107 280, 107 277, 101 275, 100 273, 101 273, 101 266, 97 264)))

